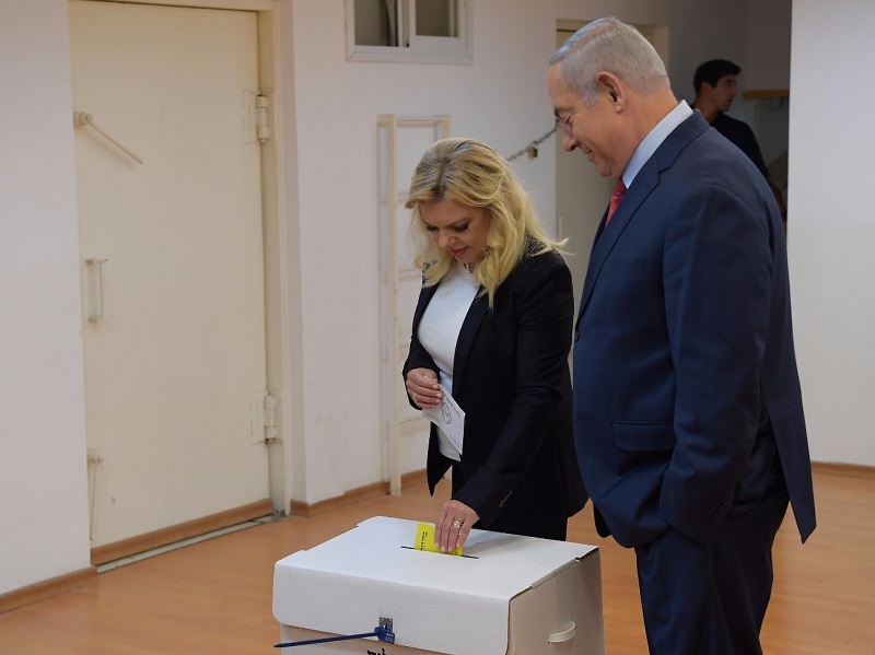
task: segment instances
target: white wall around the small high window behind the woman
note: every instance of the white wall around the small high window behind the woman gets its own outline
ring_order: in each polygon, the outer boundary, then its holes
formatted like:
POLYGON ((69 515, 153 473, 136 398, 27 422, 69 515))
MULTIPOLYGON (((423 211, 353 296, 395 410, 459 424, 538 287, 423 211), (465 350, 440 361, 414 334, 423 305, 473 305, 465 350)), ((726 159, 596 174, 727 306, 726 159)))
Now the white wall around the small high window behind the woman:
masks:
MULTIPOLYGON (((744 61, 744 3, 685 0, 476 0, 474 65, 346 60, 345 4, 295 0, 293 52, 303 316, 303 440, 296 498, 317 502, 380 480, 376 117, 447 114, 451 132, 510 155, 553 124, 547 61, 558 19, 602 15, 667 24, 669 74, 692 92, 699 61, 744 61), (699 28, 701 21, 721 31, 699 28), (305 480, 301 480, 301 476, 305 480)), ((555 141, 516 161, 545 221, 555 225, 555 141)), ((424 465, 424 444, 422 446, 424 465)))

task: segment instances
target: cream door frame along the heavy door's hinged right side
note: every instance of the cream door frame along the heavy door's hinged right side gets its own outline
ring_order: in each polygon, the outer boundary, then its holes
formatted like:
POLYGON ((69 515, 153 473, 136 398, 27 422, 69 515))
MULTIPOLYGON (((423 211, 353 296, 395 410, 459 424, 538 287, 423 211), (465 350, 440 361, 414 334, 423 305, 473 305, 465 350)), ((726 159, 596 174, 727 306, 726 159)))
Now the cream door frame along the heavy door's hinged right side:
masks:
MULTIPOLYGON (((75 2, 77 0, 69 0, 75 2)), ((129 2, 130 0, 98 0, 129 2)), ((261 221, 265 261, 265 331, 267 389, 276 398, 276 438, 268 442, 270 502, 281 515, 291 512, 295 473, 303 470, 303 408, 301 374, 301 272, 290 266, 289 252, 300 243, 298 175, 294 142, 283 138, 283 106, 294 107, 293 89, 283 87, 291 75, 293 50, 291 2, 278 0, 137 0, 138 4, 223 9, 257 14, 258 81, 268 97, 270 137, 261 145, 261 221), (282 56, 281 56, 282 55, 282 56), (283 72, 285 74, 283 74, 283 72), (298 435, 298 438, 294 438, 298 435)), ((293 125, 293 116, 291 122, 293 125)), ((290 133, 293 133, 291 130, 290 133)))

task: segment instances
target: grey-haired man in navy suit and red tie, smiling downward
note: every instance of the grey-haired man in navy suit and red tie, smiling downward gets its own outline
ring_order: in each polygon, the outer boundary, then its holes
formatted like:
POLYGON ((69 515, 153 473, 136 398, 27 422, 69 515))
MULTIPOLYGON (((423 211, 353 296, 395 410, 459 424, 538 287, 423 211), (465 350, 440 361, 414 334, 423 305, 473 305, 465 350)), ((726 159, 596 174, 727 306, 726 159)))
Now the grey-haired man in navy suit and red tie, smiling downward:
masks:
POLYGON ((620 198, 574 342, 596 527, 635 550, 651 653, 761 653, 788 502, 803 540, 815 527, 778 206, 633 27, 590 23, 550 65, 564 149, 620 198))

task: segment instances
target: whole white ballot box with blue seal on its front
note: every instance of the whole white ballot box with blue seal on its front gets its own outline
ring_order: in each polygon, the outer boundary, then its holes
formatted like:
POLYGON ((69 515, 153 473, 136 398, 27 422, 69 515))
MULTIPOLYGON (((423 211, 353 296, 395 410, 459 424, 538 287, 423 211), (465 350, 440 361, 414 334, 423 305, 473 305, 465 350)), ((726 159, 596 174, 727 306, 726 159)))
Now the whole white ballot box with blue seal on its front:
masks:
POLYGON ((459 557, 413 549, 416 534, 415 521, 375 516, 273 571, 279 643, 366 635, 381 624, 394 643, 358 636, 277 652, 604 653, 595 546, 471 530, 459 557))

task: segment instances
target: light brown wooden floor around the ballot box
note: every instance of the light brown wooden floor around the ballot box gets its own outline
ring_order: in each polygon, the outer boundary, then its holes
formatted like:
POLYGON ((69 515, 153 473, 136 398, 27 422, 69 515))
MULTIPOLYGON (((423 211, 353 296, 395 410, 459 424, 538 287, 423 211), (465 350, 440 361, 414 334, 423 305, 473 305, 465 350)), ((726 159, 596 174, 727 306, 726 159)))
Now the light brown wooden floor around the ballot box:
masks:
MULTIPOLYGON (((875 654, 875 480, 816 472, 815 494, 819 525, 809 541, 800 543, 792 517, 778 536, 765 652, 875 654)), ((370 516, 432 522, 439 496, 417 486, 107 571, 90 587, 0 615, 0 654, 279 653, 271 615, 277 560, 370 516)), ((646 653, 632 553, 595 534, 588 505, 572 519, 569 538, 602 549, 608 655, 646 653)))

